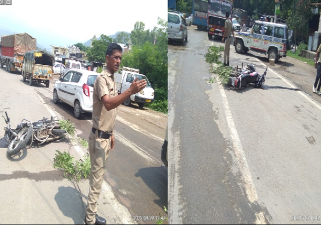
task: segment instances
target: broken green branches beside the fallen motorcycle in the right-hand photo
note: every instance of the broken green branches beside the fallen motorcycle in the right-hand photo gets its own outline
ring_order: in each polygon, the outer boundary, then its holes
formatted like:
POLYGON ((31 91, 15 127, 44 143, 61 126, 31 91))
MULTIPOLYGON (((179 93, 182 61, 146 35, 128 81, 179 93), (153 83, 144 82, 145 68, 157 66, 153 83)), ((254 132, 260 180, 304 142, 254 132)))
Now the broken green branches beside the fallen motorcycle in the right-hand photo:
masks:
MULTIPOLYGON (((223 65, 219 60, 222 57, 222 51, 224 51, 223 46, 212 45, 208 48, 205 54, 206 61, 211 65, 211 73, 217 74, 217 78, 221 81, 221 84, 227 84, 229 82, 229 77, 233 69, 229 66, 223 65)), ((208 83, 215 82, 215 78, 207 80, 208 83)))

